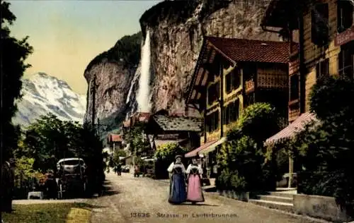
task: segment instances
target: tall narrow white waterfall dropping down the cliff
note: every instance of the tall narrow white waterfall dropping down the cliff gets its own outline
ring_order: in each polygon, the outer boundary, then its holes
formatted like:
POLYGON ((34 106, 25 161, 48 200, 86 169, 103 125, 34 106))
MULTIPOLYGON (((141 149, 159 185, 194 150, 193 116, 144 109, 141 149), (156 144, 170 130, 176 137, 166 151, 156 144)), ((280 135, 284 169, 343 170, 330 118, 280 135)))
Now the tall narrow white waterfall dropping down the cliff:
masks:
POLYGON ((142 47, 142 70, 139 79, 139 90, 137 92, 137 104, 139 112, 150 112, 150 34, 147 30, 145 42, 142 47))

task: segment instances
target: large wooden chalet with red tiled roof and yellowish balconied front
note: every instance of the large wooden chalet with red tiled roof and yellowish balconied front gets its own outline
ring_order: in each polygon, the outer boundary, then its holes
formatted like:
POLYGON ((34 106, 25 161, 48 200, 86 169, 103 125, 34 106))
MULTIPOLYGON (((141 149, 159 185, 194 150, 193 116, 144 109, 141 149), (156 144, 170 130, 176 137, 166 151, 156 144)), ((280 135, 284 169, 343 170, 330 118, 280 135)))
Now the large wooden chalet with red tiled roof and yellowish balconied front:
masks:
MULTIPOLYGON (((239 113, 255 102, 273 104, 287 120, 290 51, 287 42, 205 37, 186 104, 200 111, 201 146, 185 157, 205 155, 216 174, 216 154, 239 113)), ((286 123, 287 124, 287 123, 286 123)))

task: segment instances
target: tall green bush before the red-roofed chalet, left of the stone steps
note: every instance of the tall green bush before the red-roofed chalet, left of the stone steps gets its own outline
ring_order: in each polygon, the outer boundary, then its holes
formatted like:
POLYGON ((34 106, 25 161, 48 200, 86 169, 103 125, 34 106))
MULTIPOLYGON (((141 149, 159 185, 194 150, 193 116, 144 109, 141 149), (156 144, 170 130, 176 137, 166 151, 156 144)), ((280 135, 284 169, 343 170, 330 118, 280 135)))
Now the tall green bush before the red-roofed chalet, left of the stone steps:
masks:
POLYGON ((258 191, 275 188, 273 159, 265 164, 263 141, 279 130, 275 109, 266 103, 247 107, 217 156, 220 175, 217 188, 258 191))

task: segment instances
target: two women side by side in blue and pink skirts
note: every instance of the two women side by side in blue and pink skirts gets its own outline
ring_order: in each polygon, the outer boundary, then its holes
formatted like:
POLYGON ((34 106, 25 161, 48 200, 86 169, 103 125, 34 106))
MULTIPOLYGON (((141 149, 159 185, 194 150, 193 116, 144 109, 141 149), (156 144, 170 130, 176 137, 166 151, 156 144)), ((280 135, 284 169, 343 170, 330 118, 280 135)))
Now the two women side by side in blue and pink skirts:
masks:
POLYGON ((167 171, 170 173, 169 203, 181 204, 184 202, 204 202, 202 194, 202 167, 198 164, 197 157, 192 158, 192 163, 185 169, 182 156, 177 155, 167 171), (186 186, 187 184, 187 186, 186 186))

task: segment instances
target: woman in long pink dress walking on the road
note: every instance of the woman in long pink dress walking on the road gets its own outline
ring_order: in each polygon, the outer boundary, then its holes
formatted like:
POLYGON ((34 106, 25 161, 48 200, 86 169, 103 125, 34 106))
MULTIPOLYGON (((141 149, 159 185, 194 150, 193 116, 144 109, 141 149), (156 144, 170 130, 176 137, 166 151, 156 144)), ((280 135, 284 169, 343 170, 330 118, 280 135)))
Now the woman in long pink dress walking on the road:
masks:
POLYGON ((198 165, 196 157, 192 158, 192 164, 188 165, 186 174, 188 174, 187 200, 193 205, 197 202, 204 202, 202 195, 202 167, 198 165))

